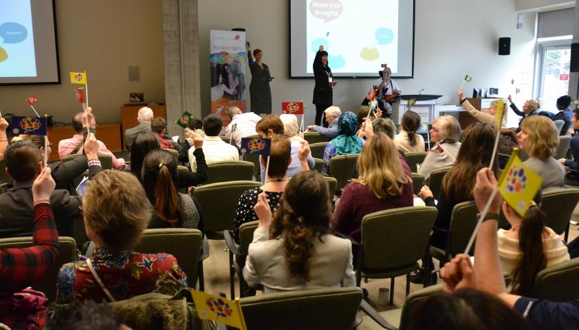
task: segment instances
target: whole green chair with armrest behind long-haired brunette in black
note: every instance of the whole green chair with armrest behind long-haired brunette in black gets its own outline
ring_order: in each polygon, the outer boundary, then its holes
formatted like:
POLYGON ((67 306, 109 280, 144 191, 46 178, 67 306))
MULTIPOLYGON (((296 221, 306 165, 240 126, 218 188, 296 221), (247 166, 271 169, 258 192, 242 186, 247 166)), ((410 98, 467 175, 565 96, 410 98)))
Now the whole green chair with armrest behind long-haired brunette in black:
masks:
MULTIPOLYGON (((479 212, 474 201, 463 201, 452 208, 450 215, 450 228, 446 236, 446 250, 430 246, 430 256, 446 263, 452 256, 464 253, 468 240, 472 235, 474 227, 477 225, 477 212, 479 212)), ((471 248, 474 250, 474 246, 471 248)))

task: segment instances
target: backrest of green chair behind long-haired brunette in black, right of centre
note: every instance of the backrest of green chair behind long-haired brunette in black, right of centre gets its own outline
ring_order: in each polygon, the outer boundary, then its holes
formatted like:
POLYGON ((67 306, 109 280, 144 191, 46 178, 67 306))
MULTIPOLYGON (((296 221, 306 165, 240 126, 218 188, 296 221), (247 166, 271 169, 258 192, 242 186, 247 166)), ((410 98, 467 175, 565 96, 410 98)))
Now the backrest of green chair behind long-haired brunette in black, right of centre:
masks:
MULTIPOLYGON (((452 208, 449 229, 450 244, 446 246, 451 256, 464 253, 470 235, 472 235, 472 231, 477 225, 477 212, 479 210, 474 201, 463 201, 455 205, 455 208, 452 208)), ((473 250, 474 245, 469 252, 471 256, 473 250)))

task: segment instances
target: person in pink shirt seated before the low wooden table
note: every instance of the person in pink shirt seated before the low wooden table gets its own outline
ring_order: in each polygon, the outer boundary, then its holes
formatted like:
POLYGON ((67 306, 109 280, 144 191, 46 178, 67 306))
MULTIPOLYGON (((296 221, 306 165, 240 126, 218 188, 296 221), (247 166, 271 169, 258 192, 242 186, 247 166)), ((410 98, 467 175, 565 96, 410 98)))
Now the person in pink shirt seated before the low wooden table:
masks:
MULTIPOLYGON (((58 142, 58 157, 61 159, 67 155, 83 153, 83 144, 85 142, 83 136, 83 112, 79 112, 74 115, 74 118, 72 118, 72 128, 76 134, 70 139, 61 140, 61 142, 58 142)), ((96 129, 96 120, 92 120, 90 123, 90 128, 91 131, 96 134, 96 131, 94 131, 96 129)), ((124 159, 117 158, 115 155, 113 155, 113 153, 107 149, 107 146, 105 146, 105 144, 100 140, 97 140, 97 142, 98 153, 110 155, 113 159, 113 168, 122 170, 124 168, 124 159)))

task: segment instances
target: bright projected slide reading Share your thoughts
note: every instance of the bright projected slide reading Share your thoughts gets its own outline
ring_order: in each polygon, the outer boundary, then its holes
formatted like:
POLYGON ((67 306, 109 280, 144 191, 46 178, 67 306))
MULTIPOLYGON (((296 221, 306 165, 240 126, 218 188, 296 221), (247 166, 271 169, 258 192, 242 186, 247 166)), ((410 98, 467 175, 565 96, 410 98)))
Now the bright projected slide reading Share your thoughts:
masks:
POLYGON ((307 5, 307 73, 313 73, 310 63, 320 45, 332 72, 378 72, 382 63, 397 72, 398 0, 307 0, 307 5))

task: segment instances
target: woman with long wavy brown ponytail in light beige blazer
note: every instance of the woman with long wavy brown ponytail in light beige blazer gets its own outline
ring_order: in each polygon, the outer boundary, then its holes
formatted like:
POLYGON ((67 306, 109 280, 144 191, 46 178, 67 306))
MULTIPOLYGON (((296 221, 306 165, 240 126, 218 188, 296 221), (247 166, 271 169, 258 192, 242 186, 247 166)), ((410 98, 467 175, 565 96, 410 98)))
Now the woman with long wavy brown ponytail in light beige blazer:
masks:
POLYGON ((351 243, 331 234, 331 197, 322 175, 292 177, 273 217, 267 198, 261 193, 254 206, 259 227, 243 268, 248 285, 263 285, 265 294, 356 285, 351 243))

